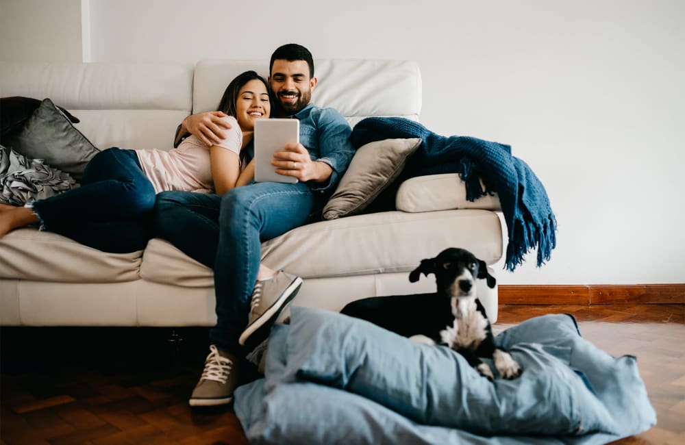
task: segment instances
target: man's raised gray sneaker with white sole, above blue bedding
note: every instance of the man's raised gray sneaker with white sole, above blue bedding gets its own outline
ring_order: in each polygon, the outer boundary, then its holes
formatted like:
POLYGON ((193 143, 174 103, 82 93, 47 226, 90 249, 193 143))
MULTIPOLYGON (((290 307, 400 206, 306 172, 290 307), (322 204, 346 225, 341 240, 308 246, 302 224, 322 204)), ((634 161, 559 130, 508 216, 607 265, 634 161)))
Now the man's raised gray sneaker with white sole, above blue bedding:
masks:
POLYGON ((270 279, 257 281, 252 291, 247 328, 240 334, 238 343, 254 346, 268 337, 271 325, 292 298, 295 298, 301 285, 300 277, 282 270, 270 279))

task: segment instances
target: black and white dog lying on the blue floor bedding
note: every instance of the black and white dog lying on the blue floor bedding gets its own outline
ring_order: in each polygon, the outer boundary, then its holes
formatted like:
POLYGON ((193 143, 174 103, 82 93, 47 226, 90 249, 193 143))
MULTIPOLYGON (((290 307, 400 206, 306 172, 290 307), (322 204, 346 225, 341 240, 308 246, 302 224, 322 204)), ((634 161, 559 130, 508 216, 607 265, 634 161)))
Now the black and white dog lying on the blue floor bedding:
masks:
POLYGON ((519 377, 521 366, 510 353, 495 346, 485 308, 476 296, 476 279, 484 278, 490 288, 495 287, 495 277, 485 262, 469 251, 450 248, 421 260, 409 281, 419 281, 421 273, 435 274, 437 292, 364 298, 349 303, 341 312, 418 342, 446 344, 490 381, 493 372, 479 357, 492 357, 504 379, 519 377))

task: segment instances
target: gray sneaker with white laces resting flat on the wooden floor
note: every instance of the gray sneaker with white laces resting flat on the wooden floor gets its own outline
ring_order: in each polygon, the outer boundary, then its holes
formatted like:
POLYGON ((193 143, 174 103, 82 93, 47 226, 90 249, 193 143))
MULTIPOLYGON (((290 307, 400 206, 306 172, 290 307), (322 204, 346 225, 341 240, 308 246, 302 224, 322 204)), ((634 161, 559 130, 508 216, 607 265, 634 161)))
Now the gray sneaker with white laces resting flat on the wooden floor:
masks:
POLYGON ((205 370, 190 395, 191 407, 225 405, 233 400, 233 390, 238 386, 240 375, 236 357, 220 351, 212 344, 205 360, 205 370))

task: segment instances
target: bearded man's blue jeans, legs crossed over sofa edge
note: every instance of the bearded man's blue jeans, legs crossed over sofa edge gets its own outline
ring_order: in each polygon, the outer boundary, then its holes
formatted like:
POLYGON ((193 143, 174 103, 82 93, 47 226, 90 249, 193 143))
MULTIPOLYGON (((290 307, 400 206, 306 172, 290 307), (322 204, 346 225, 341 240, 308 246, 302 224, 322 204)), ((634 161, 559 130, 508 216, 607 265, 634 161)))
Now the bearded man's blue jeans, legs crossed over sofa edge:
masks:
POLYGON ((326 195, 307 183, 251 183, 223 196, 162 192, 154 211, 155 235, 214 269, 216 326, 210 341, 241 353, 238 337, 261 262, 261 242, 319 217, 326 195))

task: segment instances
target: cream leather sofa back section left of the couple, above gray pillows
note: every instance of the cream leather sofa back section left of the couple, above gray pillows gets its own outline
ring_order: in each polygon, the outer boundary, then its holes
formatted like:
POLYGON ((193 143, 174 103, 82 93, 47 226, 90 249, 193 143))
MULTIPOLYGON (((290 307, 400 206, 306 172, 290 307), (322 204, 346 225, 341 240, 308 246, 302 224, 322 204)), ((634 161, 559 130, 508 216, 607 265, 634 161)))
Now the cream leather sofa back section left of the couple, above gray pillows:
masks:
POLYGON ((192 109, 192 64, 0 62, 5 96, 49 97, 95 147, 170 149, 192 109))

